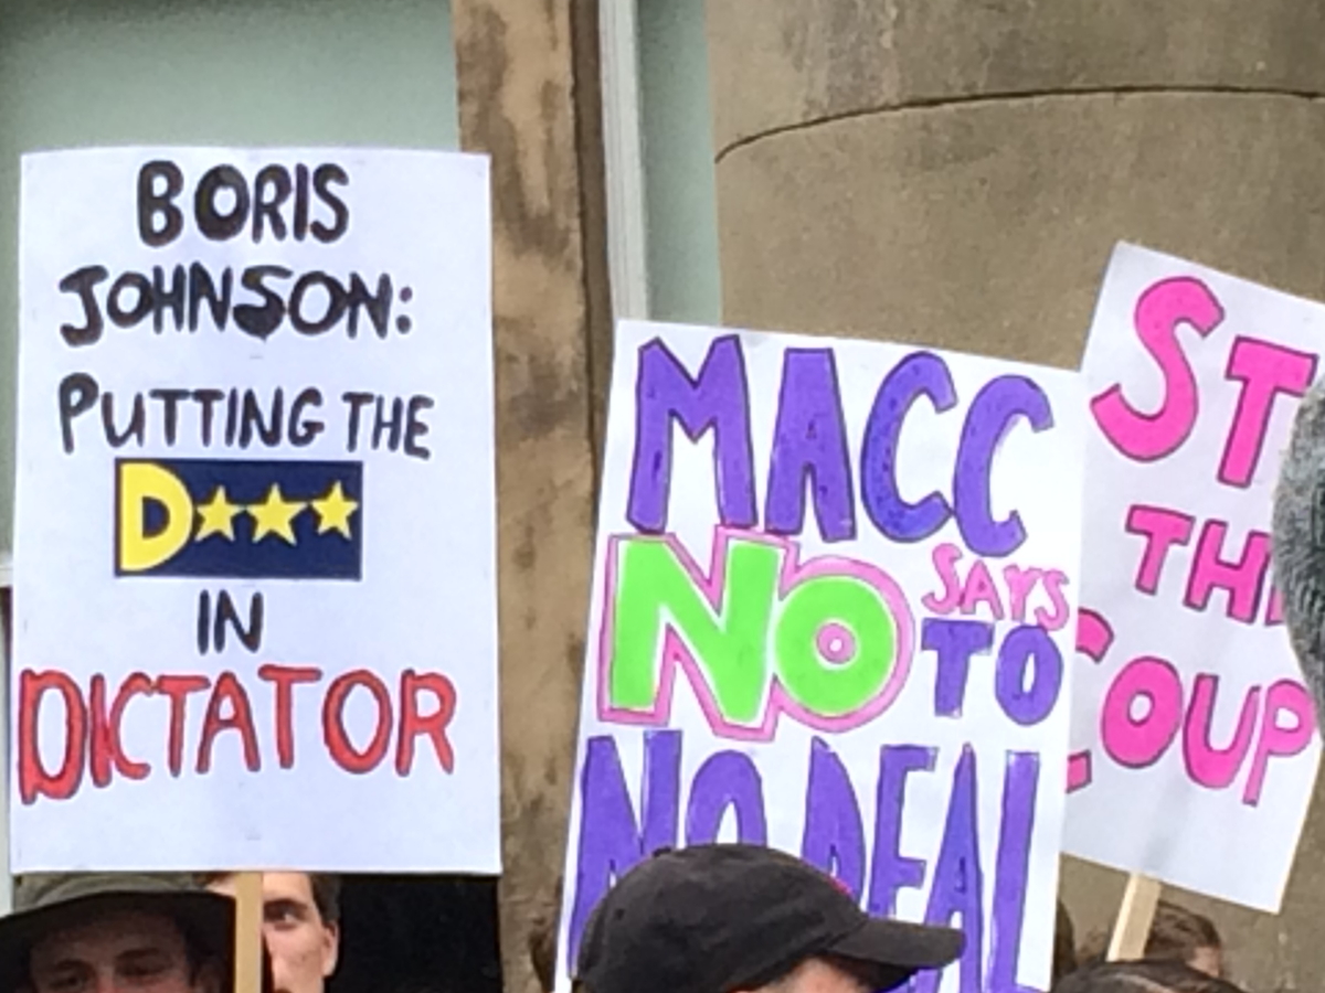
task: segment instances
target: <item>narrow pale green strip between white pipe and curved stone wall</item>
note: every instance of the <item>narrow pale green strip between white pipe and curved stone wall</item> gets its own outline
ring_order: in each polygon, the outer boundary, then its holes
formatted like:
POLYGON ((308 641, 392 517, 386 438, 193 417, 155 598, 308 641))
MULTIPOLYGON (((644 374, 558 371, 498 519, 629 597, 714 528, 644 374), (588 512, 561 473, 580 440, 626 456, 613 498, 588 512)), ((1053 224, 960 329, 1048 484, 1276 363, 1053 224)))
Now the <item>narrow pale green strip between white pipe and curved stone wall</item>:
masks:
POLYGON ((649 316, 716 324, 713 118, 704 0, 637 0, 649 316))

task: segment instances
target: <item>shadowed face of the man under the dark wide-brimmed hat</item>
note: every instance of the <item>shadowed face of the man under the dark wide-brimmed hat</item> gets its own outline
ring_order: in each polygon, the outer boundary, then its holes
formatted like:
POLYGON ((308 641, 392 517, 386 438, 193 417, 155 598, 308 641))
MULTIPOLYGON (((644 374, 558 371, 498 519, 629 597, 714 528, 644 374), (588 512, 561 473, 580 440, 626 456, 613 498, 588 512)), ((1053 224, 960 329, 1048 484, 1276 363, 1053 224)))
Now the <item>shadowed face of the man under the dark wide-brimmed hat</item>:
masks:
POLYGON ((220 993, 216 968, 193 969, 179 925, 140 911, 107 914, 37 941, 33 993, 220 993))

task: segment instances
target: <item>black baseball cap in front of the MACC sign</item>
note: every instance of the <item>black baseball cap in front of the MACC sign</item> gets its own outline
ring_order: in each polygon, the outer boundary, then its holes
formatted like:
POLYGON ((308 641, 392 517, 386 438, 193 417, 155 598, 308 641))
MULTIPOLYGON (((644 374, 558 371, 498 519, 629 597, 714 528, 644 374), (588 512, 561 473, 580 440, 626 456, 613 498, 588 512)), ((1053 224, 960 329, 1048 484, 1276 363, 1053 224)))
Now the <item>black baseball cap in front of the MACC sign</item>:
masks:
POLYGON ((807 959, 844 960, 876 990, 954 961, 962 932, 871 918, 832 876, 757 845, 660 851, 590 915, 575 978, 588 993, 733 993, 807 959))

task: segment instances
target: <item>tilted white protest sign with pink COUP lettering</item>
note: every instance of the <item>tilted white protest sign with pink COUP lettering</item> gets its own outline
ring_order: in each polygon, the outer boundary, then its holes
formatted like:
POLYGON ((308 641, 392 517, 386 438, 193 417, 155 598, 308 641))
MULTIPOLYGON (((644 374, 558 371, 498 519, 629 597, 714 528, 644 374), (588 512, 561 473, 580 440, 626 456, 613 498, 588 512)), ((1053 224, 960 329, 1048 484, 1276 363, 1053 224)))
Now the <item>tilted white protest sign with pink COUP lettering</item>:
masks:
POLYGON ((1271 498, 1322 346, 1320 305, 1120 245, 1085 359, 1067 850, 1271 911, 1320 759, 1271 498))

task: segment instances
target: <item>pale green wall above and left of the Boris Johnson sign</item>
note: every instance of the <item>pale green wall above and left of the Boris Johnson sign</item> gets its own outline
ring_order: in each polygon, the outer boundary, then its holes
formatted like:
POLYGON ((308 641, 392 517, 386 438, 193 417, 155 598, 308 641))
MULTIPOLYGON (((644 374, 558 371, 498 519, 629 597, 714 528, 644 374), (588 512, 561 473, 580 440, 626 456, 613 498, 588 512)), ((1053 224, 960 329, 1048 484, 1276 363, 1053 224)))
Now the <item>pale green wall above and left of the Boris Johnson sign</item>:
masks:
POLYGON ((11 547, 19 155, 457 146, 448 0, 0 0, 0 552, 11 547))

